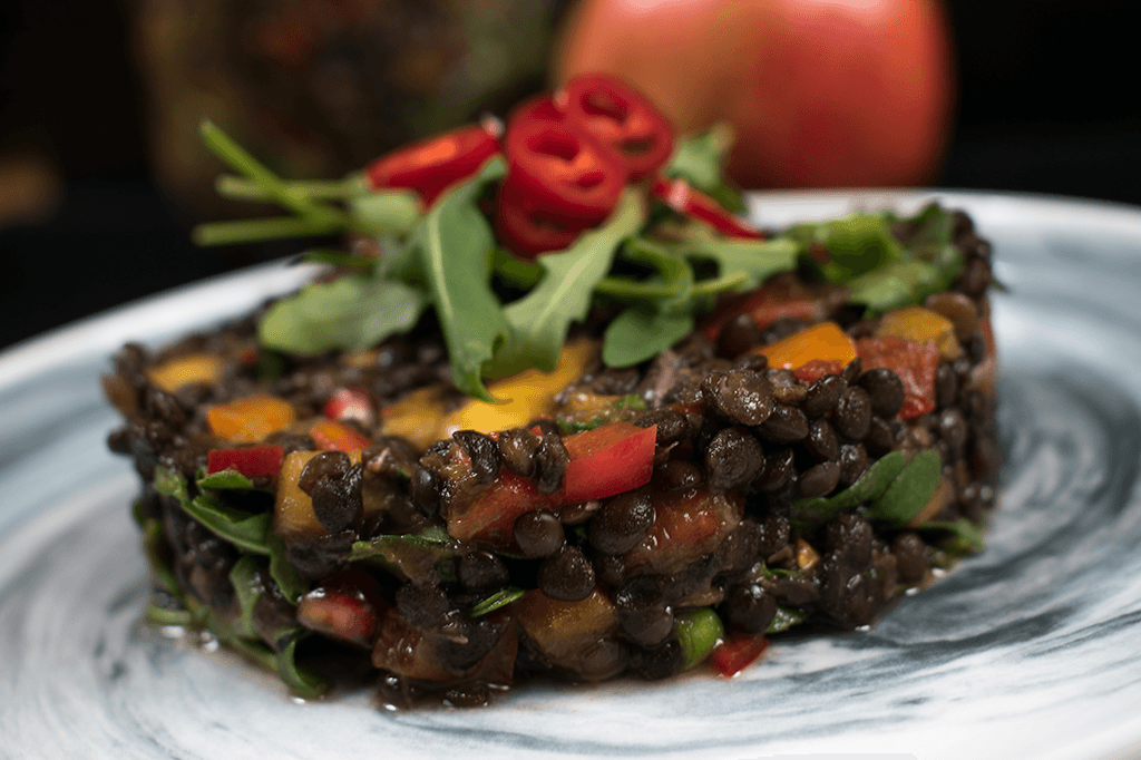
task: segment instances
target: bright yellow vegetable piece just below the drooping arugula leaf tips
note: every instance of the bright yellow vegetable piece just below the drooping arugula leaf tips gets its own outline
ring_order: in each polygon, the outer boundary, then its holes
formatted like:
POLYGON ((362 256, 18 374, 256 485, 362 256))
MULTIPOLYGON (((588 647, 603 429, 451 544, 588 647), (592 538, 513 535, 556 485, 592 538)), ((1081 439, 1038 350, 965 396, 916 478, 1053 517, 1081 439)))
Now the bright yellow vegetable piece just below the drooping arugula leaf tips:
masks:
POLYGON ((440 438, 456 430, 493 432, 518 428, 536 417, 549 414, 555 407, 555 395, 578 379, 594 356, 597 347, 591 341, 568 343, 559 355, 555 372, 543 373, 526 370, 510 378, 503 378, 487 386, 496 398, 508 399, 503 404, 488 404, 471 399, 444 420, 440 438))

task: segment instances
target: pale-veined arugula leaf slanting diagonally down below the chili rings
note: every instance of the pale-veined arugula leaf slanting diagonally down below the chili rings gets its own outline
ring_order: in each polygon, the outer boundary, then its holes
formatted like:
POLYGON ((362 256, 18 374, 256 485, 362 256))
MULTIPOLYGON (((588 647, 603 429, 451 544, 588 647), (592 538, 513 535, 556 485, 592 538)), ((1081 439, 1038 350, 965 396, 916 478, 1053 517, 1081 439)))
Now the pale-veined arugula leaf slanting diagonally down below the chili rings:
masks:
POLYGON ((607 275, 622 241, 646 223, 637 191, 626 188, 610 218, 578 237, 561 253, 539 259, 547 273, 539 285, 504 309, 510 338, 485 367, 487 377, 513 374, 527 367, 553 372, 567 330, 586 318, 594 286, 607 275))

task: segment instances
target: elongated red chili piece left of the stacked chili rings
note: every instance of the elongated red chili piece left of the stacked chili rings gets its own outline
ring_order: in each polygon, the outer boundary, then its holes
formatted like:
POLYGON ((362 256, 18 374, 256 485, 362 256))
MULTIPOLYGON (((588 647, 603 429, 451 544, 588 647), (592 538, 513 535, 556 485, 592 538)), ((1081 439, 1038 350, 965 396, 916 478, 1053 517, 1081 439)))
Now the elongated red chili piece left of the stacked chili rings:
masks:
POLYGON ((413 189, 424 205, 431 205, 450 185, 476 173, 499 152, 489 124, 470 124, 389 153, 369 164, 365 173, 373 189, 413 189))

